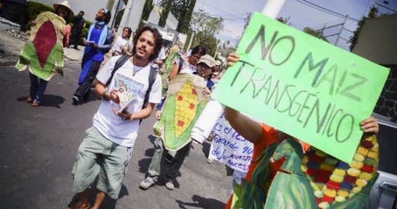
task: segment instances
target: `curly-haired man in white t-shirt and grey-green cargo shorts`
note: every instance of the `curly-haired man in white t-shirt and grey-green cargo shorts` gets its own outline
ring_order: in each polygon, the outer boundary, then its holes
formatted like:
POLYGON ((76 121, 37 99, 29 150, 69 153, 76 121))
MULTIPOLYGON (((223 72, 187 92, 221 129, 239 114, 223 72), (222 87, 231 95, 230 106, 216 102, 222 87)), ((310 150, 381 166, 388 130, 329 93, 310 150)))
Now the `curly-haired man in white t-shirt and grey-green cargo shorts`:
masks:
POLYGON ((72 173, 73 191, 79 193, 80 198, 69 209, 90 207, 89 186, 97 176, 98 191, 92 209, 99 208, 106 194, 118 198, 137 139, 139 120, 149 117, 161 99, 161 78, 149 62, 158 56, 162 45, 163 38, 158 30, 151 26, 141 27, 134 37, 132 57, 111 58, 96 76, 99 82, 95 93, 103 101, 78 149, 72 173), (156 79, 151 83, 153 75, 156 79), (120 113, 121 89, 134 99, 120 113))

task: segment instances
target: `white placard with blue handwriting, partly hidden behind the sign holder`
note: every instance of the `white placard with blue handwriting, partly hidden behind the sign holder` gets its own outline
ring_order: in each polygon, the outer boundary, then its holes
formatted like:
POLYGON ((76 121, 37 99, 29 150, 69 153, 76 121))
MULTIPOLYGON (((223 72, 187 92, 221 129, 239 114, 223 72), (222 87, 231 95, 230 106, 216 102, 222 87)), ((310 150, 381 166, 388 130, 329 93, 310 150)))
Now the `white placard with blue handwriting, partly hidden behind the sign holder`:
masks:
POLYGON ((241 137, 225 119, 220 116, 213 131, 213 138, 208 158, 225 163, 234 170, 247 172, 251 164, 253 144, 241 137))

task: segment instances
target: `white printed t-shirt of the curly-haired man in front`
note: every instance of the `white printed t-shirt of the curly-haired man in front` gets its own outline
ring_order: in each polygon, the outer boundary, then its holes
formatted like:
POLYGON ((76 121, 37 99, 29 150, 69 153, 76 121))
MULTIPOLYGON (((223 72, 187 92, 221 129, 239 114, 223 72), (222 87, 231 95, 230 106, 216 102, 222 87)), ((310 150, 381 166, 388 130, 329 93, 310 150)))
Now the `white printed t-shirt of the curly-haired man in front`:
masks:
MULTIPOLYGON (((118 58, 120 58, 120 56, 114 56, 103 65, 102 70, 96 75, 96 79, 98 79, 99 82, 106 84, 111 77, 111 72, 118 58)), ((135 96, 133 102, 126 108, 130 113, 141 110, 144 105, 146 90, 149 87, 150 65, 141 68, 136 72, 135 76, 132 76, 132 69, 134 69, 134 65, 128 60, 115 72, 111 84, 108 86, 108 91, 110 92, 115 88, 115 84, 118 84, 118 87, 120 87, 120 84, 127 83, 128 89, 130 89, 135 96), (120 82, 122 79, 127 79, 127 82, 120 82)), ((151 87, 149 103, 160 103, 161 87, 161 77, 157 75, 156 81, 151 87)), ((115 144, 133 147, 135 139, 137 139, 138 136, 139 119, 132 121, 122 120, 122 118, 113 113, 112 107, 120 108, 120 105, 113 103, 113 101, 102 101, 101 106, 99 106, 98 111, 96 111, 94 115, 93 126, 96 127, 106 139, 113 141, 115 144)))

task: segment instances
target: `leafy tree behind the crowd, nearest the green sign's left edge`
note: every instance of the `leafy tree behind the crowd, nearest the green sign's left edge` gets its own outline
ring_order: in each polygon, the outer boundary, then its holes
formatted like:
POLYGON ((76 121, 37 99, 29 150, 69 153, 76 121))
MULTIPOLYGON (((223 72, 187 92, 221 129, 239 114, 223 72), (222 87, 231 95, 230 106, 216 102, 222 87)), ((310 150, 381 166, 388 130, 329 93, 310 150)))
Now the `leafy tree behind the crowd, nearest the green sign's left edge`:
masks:
POLYGON ((203 12, 194 13, 191 20, 191 30, 195 33, 192 46, 204 46, 213 56, 219 44, 215 34, 219 34, 223 29, 223 18, 215 18, 203 12))

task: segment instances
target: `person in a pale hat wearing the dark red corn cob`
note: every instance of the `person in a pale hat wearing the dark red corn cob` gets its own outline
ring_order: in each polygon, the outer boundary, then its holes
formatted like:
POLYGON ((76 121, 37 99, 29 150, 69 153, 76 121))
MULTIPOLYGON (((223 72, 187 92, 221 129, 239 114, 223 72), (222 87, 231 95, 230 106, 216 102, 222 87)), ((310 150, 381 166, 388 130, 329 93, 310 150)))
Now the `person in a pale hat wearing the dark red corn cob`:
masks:
POLYGON ((43 12, 32 20, 32 37, 20 53, 17 70, 29 69, 30 94, 27 103, 40 106, 47 82, 55 72, 63 75, 63 44, 65 25, 73 11, 68 1, 53 4, 56 14, 43 12))

